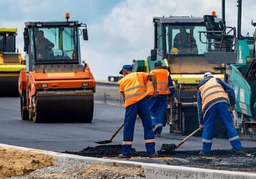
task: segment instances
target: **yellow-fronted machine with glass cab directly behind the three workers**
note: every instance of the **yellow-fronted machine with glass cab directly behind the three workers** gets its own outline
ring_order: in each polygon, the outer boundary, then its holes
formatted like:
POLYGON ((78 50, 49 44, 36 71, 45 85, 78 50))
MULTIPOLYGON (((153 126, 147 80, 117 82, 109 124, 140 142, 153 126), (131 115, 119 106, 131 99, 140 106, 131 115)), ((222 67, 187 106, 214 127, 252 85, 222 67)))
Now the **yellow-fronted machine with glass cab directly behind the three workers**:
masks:
MULTIPOLYGON (((215 17, 214 22, 222 23, 222 20, 215 17)), ((177 90, 166 110, 170 133, 188 135, 199 125, 197 84, 206 72, 221 79, 224 79, 224 74, 223 71, 216 71, 216 65, 208 63, 204 55, 209 45, 202 43, 199 37, 199 31, 206 30, 203 17, 162 16, 154 17, 153 23, 154 49, 146 60, 136 61, 133 71, 150 72, 154 69, 154 61, 162 60, 163 68, 169 70, 177 90)), ((206 40, 206 37, 202 39, 206 40)), ((223 66, 219 63, 216 68, 223 66)))

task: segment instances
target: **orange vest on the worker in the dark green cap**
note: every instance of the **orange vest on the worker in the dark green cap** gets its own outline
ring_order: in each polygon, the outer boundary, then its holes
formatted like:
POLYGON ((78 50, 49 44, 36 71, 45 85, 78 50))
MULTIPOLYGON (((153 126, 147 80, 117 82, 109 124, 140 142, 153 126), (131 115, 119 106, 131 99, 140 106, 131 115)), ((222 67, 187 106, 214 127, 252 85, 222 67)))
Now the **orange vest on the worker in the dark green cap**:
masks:
MULTIPOLYGON (((159 68, 152 70, 150 73, 155 74, 155 77, 157 78, 159 95, 169 95, 171 93, 168 85, 169 72, 166 69, 159 68)), ((150 95, 153 95, 153 93, 150 95)))

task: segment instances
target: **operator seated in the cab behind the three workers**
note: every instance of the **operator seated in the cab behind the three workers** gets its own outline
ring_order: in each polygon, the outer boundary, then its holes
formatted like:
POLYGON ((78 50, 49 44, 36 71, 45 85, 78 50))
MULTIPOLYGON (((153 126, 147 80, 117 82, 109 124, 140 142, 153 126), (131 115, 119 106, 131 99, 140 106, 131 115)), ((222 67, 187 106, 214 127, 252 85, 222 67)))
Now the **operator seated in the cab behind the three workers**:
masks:
POLYGON ((184 27, 180 27, 180 33, 173 39, 173 47, 177 48, 179 53, 187 53, 187 50, 197 49, 196 39, 188 33, 184 27))

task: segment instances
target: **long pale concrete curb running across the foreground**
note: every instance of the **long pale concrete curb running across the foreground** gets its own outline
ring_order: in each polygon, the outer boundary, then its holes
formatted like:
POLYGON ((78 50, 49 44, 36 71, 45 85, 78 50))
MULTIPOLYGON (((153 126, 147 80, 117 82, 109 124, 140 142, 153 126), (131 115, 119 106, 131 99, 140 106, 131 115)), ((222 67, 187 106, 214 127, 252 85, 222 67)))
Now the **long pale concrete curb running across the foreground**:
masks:
POLYGON ((181 167, 162 164, 148 164, 128 160, 113 160, 94 157, 83 157, 52 151, 44 151, 19 147, 14 145, 0 144, 0 147, 11 148, 34 153, 43 153, 53 157, 54 165, 70 167, 77 164, 94 163, 118 167, 139 167, 143 168, 148 179, 255 179, 256 173, 233 172, 225 170, 210 170, 203 168, 181 167))

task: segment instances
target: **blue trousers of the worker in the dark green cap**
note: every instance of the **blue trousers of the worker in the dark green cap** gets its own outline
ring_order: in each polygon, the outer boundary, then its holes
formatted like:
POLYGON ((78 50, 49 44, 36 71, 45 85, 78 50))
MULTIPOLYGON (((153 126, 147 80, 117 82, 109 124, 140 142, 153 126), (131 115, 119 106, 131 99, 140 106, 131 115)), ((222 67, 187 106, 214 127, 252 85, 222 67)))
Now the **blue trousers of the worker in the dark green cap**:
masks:
POLYGON ((166 110, 167 95, 159 95, 152 98, 149 104, 150 116, 152 119, 152 127, 159 125, 160 127, 155 131, 157 134, 161 134, 163 130, 164 113, 166 110))

